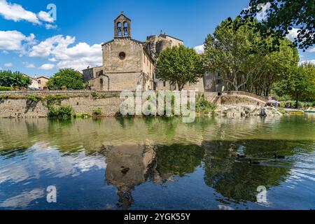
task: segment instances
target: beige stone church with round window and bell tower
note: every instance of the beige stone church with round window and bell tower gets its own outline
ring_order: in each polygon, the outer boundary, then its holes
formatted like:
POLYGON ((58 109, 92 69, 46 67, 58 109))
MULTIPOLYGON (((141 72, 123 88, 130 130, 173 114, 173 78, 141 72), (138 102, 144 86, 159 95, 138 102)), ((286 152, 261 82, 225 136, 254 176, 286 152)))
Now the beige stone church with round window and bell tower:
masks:
MULTIPOLYGON (((132 38, 131 20, 122 12, 114 20, 114 38, 102 44, 103 65, 83 70, 83 79, 92 90, 120 91, 176 90, 155 77, 156 55, 165 48, 183 45, 183 41, 167 34, 148 36, 146 42, 132 38)), ((184 89, 204 91, 204 81, 184 89)))

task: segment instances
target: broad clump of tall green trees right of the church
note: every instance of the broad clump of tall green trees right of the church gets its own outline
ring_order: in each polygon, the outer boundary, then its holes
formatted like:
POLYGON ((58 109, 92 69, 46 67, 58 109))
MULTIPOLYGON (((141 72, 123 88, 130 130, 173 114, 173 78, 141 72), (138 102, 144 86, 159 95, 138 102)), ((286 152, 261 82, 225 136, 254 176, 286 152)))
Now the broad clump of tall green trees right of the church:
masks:
POLYGON ((226 90, 243 90, 266 96, 283 73, 297 66, 297 49, 287 39, 267 30, 261 33, 257 20, 240 17, 224 20, 204 43, 207 71, 219 72, 226 90))

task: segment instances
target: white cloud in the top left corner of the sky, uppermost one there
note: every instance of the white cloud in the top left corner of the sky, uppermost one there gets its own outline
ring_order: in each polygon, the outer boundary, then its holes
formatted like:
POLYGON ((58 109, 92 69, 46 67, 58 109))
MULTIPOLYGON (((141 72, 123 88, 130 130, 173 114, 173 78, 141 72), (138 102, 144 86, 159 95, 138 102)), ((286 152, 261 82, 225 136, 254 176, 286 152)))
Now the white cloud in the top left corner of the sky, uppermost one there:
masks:
POLYGON ((16 3, 8 3, 6 0, 0 0, 0 15, 6 20, 15 22, 26 20, 34 24, 41 24, 35 13, 25 10, 25 8, 16 3))

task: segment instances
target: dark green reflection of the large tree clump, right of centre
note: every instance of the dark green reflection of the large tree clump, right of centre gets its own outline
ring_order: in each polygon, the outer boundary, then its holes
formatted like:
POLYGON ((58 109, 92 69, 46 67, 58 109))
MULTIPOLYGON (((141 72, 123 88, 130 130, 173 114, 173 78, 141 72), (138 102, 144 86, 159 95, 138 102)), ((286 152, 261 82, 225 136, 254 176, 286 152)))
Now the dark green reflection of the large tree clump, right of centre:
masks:
POLYGON ((204 142, 206 150, 205 183, 229 200, 255 202, 258 186, 279 186, 289 168, 272 165, 274 153, 292 155, 294 148, 289 141, 242 140, 204 142), (245 148, 245 150, 244 150, 245 148), (251 166, 248 160, 236 160, 239 150, 248 157, 258 158, 262 165, 251 166))

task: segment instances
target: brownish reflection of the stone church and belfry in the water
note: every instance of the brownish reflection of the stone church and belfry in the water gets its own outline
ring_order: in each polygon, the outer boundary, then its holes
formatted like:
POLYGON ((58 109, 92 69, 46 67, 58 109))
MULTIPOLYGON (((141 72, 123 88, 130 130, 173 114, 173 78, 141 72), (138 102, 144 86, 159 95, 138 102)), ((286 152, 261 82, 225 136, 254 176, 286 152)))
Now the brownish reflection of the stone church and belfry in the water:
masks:
POLYGON ((117 188, 118 207, 132 206, 132 191, 141 183, 162 184, 172 177, 158 172, 153 146, 115 146, 106 151, 106 181, 117 188))

